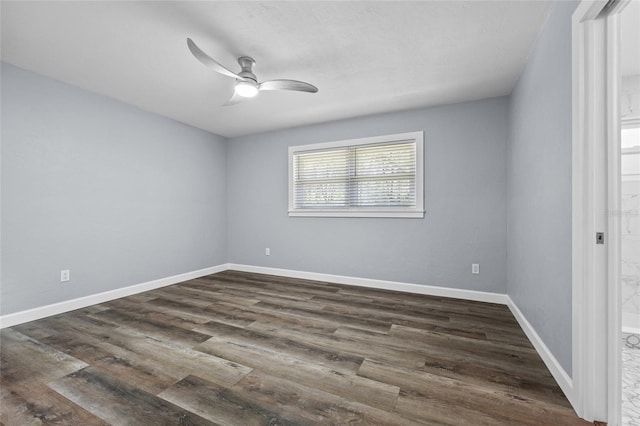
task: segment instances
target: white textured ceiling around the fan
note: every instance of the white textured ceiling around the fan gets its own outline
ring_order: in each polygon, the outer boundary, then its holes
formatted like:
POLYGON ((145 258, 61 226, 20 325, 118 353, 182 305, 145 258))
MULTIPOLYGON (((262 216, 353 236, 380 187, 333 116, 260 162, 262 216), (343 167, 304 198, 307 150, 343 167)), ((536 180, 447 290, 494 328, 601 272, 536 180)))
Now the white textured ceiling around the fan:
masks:
POLYGON ((549 1, 2 1, 3 61, 227 136, 511 92, 549 1), (223 107, 252 56, 264 92, 223 107))

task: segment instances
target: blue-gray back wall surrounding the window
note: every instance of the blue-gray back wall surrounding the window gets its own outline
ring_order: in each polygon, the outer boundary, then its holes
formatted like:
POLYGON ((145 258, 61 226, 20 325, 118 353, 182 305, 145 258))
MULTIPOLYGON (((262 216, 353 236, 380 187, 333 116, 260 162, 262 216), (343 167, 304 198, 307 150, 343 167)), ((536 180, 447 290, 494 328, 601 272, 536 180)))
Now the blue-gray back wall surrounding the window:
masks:
POLYGON ((505 293, 506 120, 494 98, 231 139, 229 261, 505 293), (287 147, 417 130, 424 219, 288 217, 287 147))

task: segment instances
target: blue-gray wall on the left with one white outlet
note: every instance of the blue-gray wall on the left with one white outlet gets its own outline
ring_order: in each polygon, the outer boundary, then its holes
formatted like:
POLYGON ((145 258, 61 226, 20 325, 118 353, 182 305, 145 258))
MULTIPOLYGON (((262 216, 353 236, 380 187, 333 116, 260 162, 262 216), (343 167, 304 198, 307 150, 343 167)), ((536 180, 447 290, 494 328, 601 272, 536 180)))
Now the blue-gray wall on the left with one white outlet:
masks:
POLYGON ((3 315, 226 262, 225 138, 1 71, 3 315))

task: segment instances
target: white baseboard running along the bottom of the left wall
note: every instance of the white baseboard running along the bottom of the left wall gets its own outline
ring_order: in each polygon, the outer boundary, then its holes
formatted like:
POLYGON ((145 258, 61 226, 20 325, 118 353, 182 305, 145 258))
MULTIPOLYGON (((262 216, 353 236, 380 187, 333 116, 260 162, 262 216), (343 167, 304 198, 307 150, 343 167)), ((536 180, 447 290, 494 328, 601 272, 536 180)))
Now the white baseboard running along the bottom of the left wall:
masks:
POLYGON ((133 294, 154 290, 156 288, 166 287, 168 285, 192 280, 194 278, 203 277, 205 275, 222 272, 227 269, 228 267, 226 264, 212 266, 209 268, 199 269, 192 272, 185 272, 184 274, 160 278, 141 284, 135 284, 132 286, 109 290, 102 293, 91 294, 89 296, 79 297, 77 299, 67 300, 64 302, 54 303, 46 306, 40 306, 38 308, 28 309, 26 311, 2 315, 0 316, 0 329, 5 327, 12 327, 14 325, 22 324, 29 321, 35 321, 37 319, 45 318, 51 315, 57 315, 76 309, 86 308, 87 306, 108 302, 110 300, 131 296, 133 294))

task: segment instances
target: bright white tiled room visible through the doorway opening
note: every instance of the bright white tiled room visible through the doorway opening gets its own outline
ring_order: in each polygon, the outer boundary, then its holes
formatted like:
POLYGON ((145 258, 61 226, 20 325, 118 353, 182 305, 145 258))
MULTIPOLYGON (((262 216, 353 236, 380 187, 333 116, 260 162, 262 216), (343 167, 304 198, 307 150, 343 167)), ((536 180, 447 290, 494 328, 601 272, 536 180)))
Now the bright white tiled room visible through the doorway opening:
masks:
POLYGON ((640 425, 640 2, 620 15, 620 423, 640 425))

